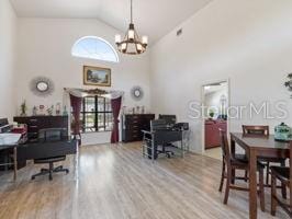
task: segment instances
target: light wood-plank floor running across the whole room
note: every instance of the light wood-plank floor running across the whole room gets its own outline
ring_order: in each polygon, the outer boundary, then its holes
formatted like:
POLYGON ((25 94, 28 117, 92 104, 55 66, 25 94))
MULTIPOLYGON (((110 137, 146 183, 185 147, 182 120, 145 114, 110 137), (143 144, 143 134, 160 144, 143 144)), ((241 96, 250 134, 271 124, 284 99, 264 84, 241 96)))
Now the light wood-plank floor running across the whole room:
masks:
MULTIPOLYGON (((74 171, 54 181, 31 181, 40 165, 19 172, 16 183, 1 176, 2 219, 227 219, 248 218, 248 195, 231 192, 227 206, 217 192, 221 162, 202 155, 159 159, 141 155, 139 143, 91 146, 80 150, 79 180, 74 171)), ((72 169, 74 158, 65 166, 72 169)), ((269 211, 269 191, 266 206, 269 211)), ((259 218, 269 212, 259 210, 259 218)), ((278 218, 289 218, 282 211, 278 218)))

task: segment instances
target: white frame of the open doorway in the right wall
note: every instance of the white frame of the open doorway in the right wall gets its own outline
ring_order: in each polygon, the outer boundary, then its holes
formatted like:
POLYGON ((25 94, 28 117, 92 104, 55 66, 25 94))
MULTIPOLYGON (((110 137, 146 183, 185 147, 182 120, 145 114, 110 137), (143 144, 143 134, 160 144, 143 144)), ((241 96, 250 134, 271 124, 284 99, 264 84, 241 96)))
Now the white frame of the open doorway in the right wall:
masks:
MULTIPOLYGON (((202 104, 202 107, 205 106, 205 95, 204 95, 204 87, 207 87, 207 85, 212 85, 214 83, 221 83, 221 82, 226 82, 227 83, 227 107, 231 106, 231 79, 227 78, 227 79, 222 79, 222 80, 212 80, 212 81, 207 81, 205 83, 203 83, 201 85, 201 104, 202 104)), ((202 154, 205 154, 205 119, 204 119, 204 115, 201 116, 201 151, 202 151, 202 154)), ((229 125, 231 125, 231 120, 229 120, 229 116, 227 116, 227 134, 229 132, 229 125)))

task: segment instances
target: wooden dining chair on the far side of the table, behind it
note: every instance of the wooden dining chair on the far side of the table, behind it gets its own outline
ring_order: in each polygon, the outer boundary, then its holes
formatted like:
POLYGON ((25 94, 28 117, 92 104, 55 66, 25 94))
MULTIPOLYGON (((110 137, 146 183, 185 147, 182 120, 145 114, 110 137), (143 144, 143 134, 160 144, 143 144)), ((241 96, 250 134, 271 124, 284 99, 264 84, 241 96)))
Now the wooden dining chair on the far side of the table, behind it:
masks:
MULTIPOLYGON (((243 132, 245 136, 268 137, 270 135, 269 126, 246 126, 243 125, 243 132)), ((267 158, 260 157, 259 161, 266 166, 266 186, 270 186, 270 163, 279 163, 285 166, 285 159, 282 158, 267 158)), ((285 189, 283 189, 283 197, 285 197, 285 189)))

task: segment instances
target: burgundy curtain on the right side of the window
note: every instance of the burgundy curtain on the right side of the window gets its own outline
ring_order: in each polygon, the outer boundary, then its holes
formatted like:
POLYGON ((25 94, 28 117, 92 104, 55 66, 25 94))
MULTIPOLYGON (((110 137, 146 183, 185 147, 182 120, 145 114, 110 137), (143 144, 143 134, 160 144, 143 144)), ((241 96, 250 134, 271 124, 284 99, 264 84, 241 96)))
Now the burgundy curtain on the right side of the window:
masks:
POLYGON ((111 142, 116 143, 119 142, 119 123, 120 123, 119 115, 122 104, 122 96, 120 96, 119 99, 111 100, 111 104, 113 111, 113 129, 112 129, 111 142))

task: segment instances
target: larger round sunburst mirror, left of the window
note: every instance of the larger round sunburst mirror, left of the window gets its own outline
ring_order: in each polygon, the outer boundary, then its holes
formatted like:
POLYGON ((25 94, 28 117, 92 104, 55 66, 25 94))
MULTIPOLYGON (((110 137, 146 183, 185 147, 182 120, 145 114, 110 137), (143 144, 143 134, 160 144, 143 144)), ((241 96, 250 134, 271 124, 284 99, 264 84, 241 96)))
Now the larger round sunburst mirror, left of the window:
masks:
POLYGON ((50 95, 54 91, 54 83, 45 77, 37 77, 31 81, 31 91, 38 96, 50 95))

